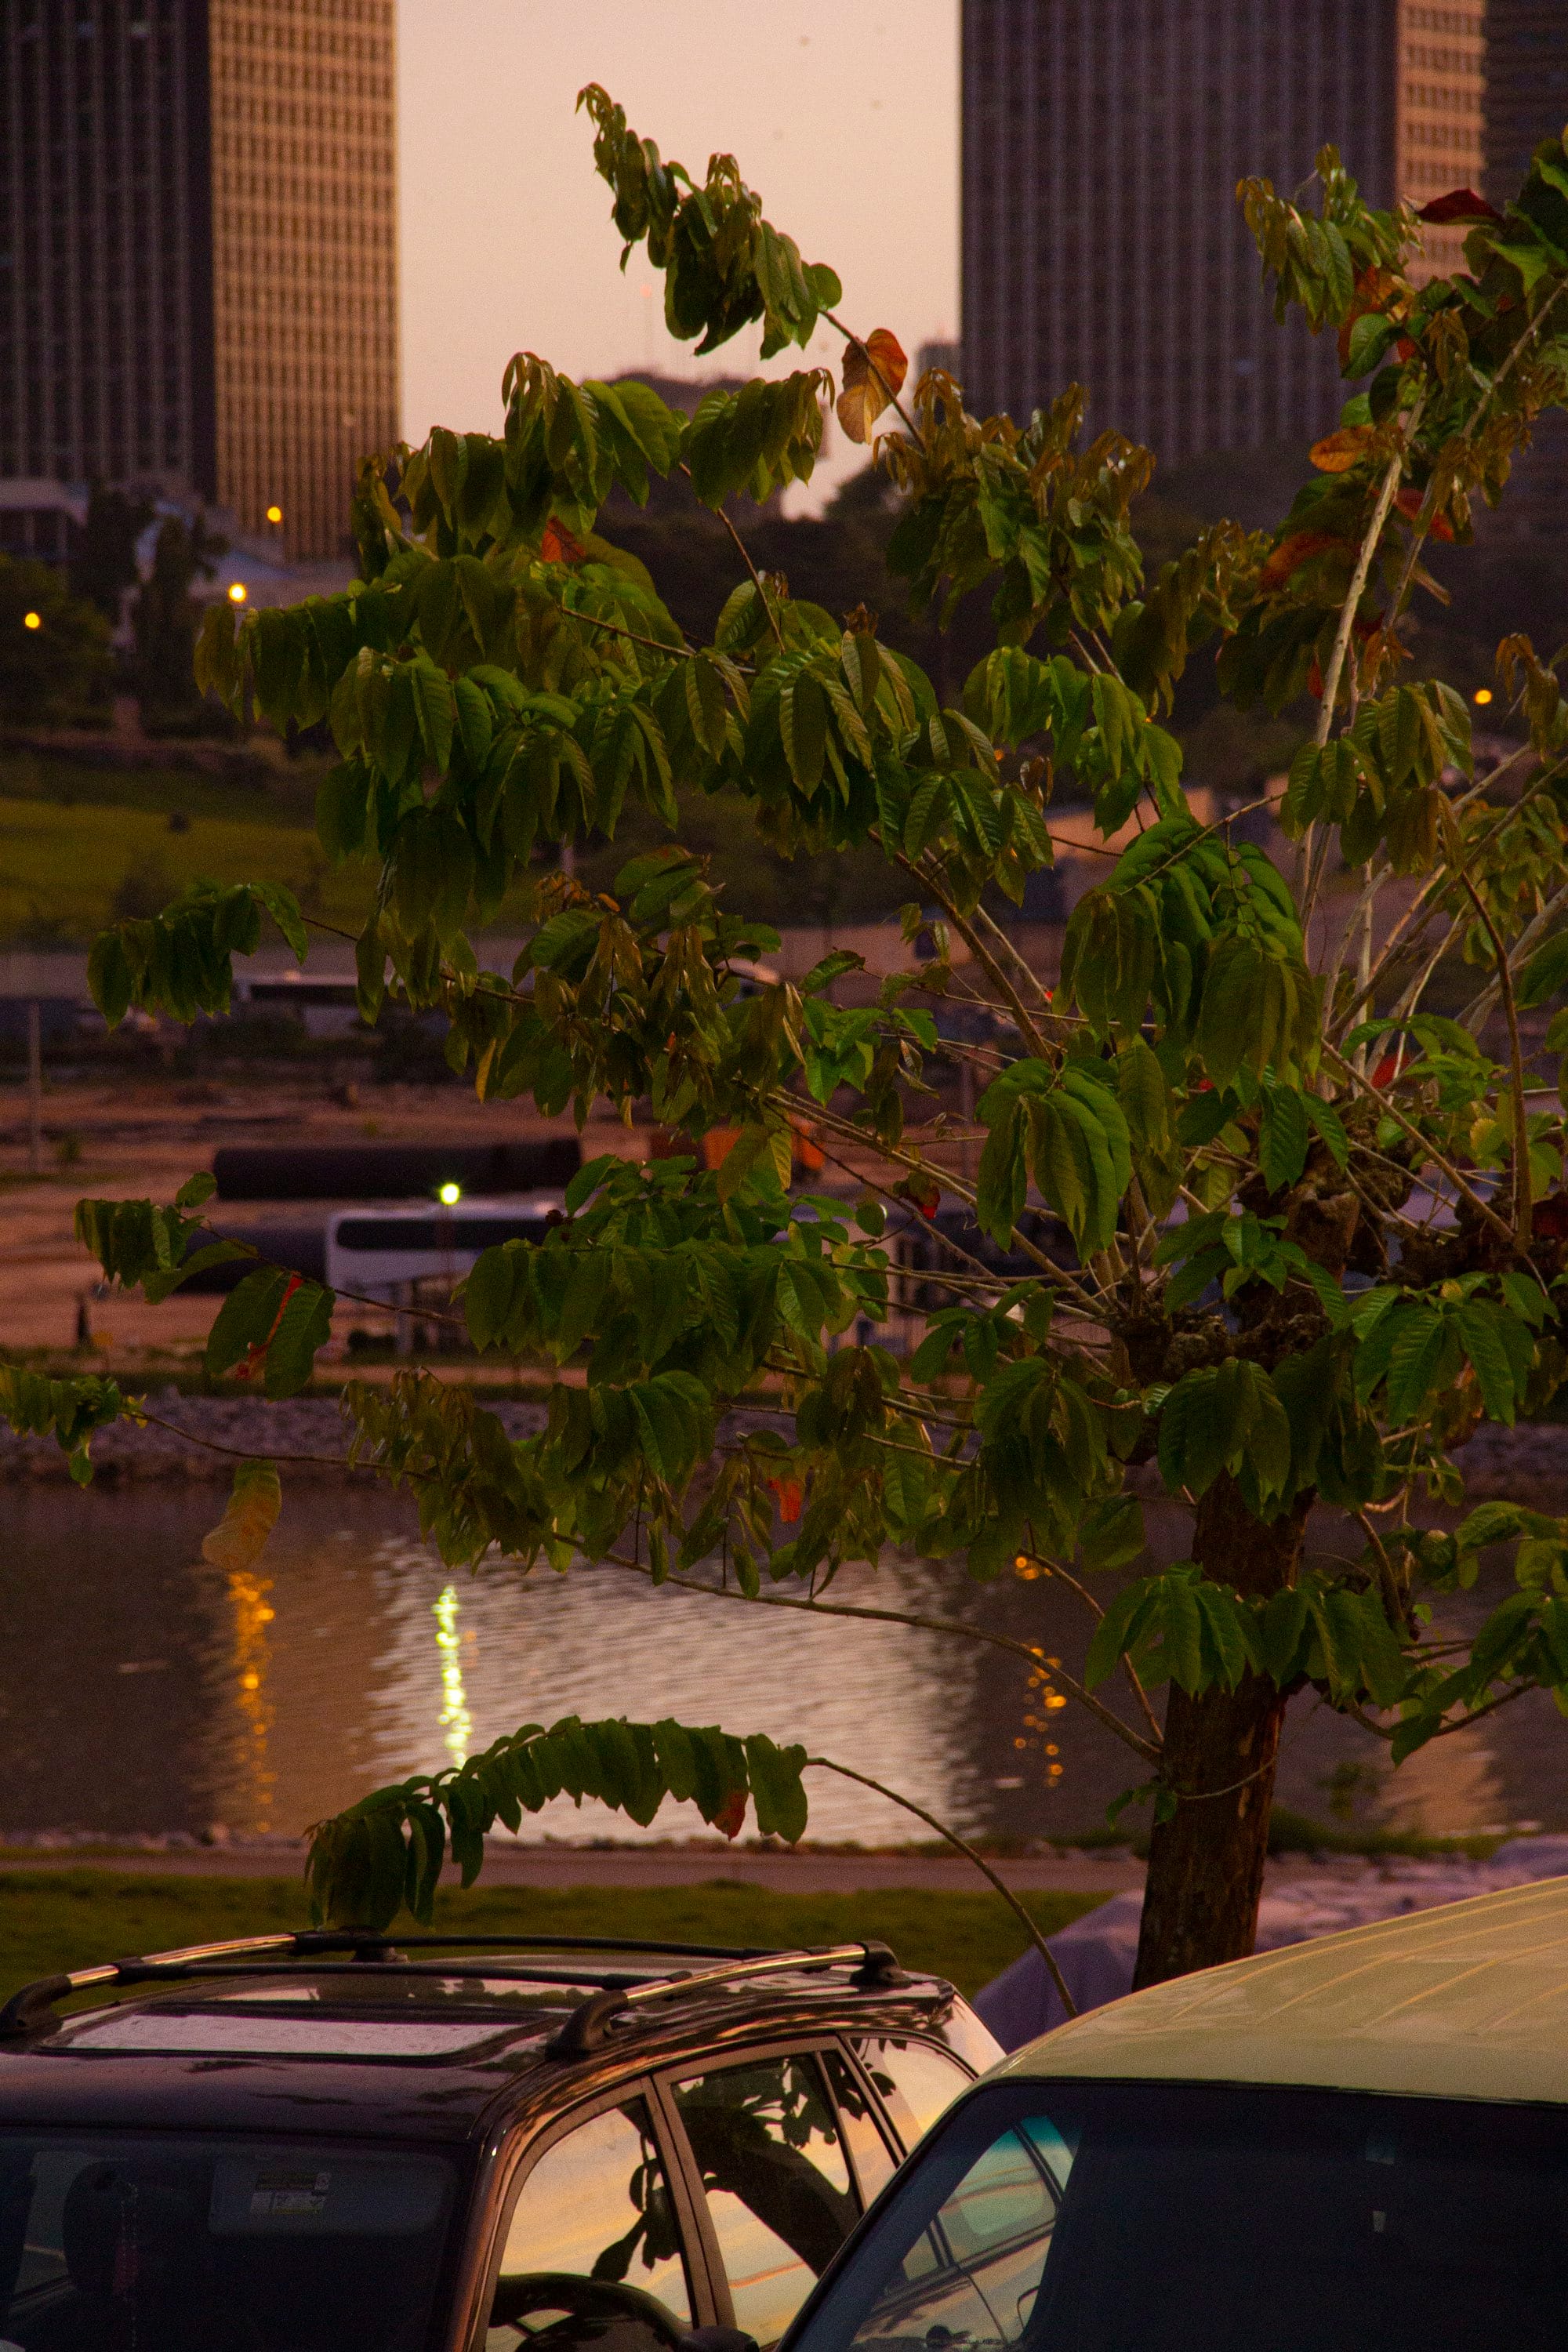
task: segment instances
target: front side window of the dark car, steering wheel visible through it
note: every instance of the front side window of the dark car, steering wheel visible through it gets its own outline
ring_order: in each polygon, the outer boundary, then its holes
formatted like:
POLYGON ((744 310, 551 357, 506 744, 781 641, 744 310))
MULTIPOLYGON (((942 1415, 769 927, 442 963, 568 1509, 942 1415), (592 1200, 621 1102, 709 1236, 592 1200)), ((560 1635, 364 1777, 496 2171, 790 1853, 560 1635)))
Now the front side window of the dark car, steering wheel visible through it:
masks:
POLYGON ((484 2352, 654 2352, 691 2326, 679 2220, 654 2122, 632 2098, 590 2117, 527 2173, 501 2253, 484 2352))

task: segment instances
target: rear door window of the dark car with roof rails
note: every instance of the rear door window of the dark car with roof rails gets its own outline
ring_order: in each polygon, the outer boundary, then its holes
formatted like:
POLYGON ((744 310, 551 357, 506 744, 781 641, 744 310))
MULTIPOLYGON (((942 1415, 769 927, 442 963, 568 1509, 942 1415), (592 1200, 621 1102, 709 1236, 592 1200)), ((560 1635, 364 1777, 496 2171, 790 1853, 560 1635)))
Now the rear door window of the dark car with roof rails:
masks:
POLYGON ((813 2058, 757 2058, 675 2084, 736 2326, 776 2345, 858 2220, 813 2058))

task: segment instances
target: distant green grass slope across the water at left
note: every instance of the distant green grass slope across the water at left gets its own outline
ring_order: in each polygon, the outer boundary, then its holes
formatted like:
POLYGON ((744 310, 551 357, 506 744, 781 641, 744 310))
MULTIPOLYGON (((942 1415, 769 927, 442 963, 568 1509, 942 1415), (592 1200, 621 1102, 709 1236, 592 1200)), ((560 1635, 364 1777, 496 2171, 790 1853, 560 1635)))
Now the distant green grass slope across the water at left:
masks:
POLYGON ((155 809, 0 800, 0 938, 87 941, 118 913, 155 913, 197 877, 284 882, 313 915, 355 929, 374 889, 371 866, 329 866, 299 823, 193 816, 172 833, 155 809))

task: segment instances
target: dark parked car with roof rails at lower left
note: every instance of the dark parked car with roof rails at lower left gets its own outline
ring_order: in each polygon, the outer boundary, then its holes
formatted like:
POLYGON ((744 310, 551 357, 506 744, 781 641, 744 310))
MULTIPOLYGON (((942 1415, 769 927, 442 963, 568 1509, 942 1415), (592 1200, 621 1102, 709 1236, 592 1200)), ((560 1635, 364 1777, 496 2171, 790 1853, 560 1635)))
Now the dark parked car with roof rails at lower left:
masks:
POLYGON ((773 2345, 997 2056, 879 1943, 301 1933, 45 1978, 0 2011, 0 2352, 773 2345), (134 1990, 59 2013, 89 1987, 134 1990))

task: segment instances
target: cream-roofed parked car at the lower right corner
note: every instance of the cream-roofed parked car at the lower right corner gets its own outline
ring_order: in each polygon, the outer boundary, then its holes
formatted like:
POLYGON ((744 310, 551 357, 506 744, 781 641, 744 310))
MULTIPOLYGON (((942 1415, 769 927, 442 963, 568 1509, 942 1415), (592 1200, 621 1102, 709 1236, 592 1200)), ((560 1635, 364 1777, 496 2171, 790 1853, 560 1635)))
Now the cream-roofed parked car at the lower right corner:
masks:
POLYGON ((969 2091, 785 2352, 1568 2343, 1568 1879, 1178 1978, 969 2091))

